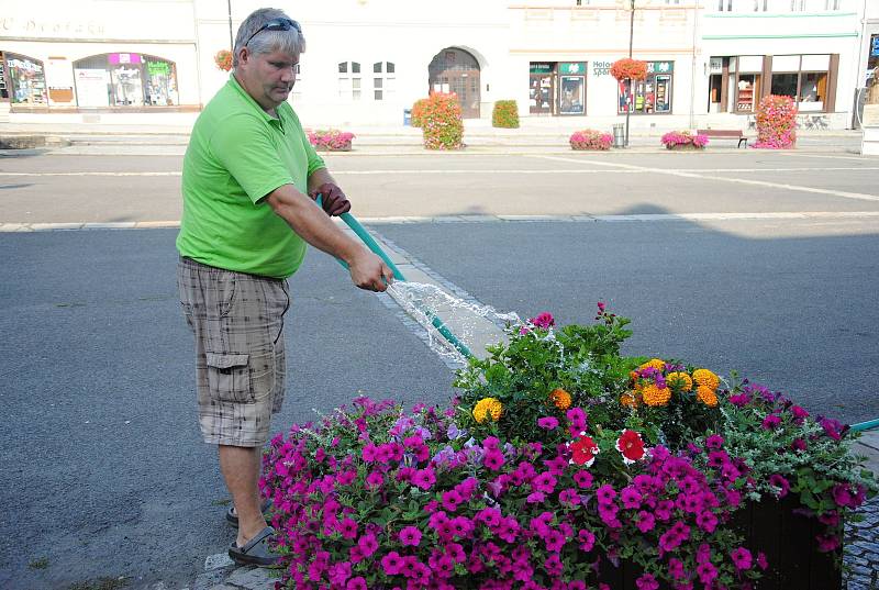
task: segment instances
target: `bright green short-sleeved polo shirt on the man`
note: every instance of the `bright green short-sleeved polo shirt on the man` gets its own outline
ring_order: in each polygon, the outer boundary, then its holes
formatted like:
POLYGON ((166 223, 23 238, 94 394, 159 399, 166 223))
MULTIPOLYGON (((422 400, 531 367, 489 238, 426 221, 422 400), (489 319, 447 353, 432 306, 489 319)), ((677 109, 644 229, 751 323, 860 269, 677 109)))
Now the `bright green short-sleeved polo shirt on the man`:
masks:
POLYGON ((265 197, 282 185, 308 192, 308 178, 325 165, 289 103, 265 112, 234 76, 192 127, 183 159, 181 256, 252 275, 287 278, 305 242, 265 197))

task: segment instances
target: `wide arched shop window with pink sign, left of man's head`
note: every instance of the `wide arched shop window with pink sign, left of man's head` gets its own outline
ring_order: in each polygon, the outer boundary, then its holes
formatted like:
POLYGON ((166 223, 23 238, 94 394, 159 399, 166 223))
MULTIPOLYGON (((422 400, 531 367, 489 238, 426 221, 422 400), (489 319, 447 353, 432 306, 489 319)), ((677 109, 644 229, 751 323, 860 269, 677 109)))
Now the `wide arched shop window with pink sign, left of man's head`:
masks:
POLYGON ((174 107, 177 66, 153 55, 111 53, 74 62, 79 107, 174 107))

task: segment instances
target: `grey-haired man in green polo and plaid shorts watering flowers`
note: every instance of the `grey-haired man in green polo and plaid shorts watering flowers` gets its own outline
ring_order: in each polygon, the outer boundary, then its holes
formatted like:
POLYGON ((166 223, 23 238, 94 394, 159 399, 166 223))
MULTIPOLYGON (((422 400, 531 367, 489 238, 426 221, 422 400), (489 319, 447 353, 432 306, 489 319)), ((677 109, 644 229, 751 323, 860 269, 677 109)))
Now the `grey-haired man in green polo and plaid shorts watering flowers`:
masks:
POLYGON ((277 565, 260 508, 260 447, 285 391, 287 278, 305 242, 349 266, 359 288, 383 291, 390 269, 331 220, 351 203, 287 102, 305 41, 282 11, 241 24, 229 82, 199 115, 183 160, 178 287, 196 335, 199 423, 219 448, 237 521, 230 556, 277 565), (314 198, 322 194, 323 210, 314 198))

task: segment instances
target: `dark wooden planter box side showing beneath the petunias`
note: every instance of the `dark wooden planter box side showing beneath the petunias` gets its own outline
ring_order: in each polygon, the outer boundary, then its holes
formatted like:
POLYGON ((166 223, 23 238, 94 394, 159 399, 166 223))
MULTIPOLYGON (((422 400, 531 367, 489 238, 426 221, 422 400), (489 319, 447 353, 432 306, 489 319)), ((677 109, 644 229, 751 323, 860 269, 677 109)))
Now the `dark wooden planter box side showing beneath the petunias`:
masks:
MULTIPOLYGON (((797 512, 800 508, 792 498, 764 500, 748 503, 734 514, 733 526, 745 536, 745 547, 755 558, 757 552, 766 554, 769 569, 755 582, 756 590, 842 590, 843 572, 836 568, 842 563, 842 547, 834 553, 820 553, 815 536, 823 532, 816 519, 797 512)), ((613 590, 637 590, 635 580, 643 574, 636 564, 623 560, 614 568, 602 560, 596 581, 613 590)), ((699 586, 699 585, 697 585, 699 586)), ((659 590, 671 590, 659 585, 659 590)))

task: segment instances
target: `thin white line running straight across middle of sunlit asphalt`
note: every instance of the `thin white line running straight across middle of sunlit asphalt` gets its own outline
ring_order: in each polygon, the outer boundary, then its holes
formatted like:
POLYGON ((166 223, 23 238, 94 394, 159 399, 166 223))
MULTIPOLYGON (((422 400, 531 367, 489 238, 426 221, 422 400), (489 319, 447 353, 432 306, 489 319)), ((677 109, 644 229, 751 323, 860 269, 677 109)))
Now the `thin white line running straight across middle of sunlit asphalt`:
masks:
MULTIPOLYGON (((570 174, 570 175, 581 175, 581 174, 630 174, 630 172, 656 172, 663 171, 665 174, 725 174, 725 172, 823 172, 823 171, 858 171, 858 170, 866 170, 866 171, 875 171, 879 170, 879 166, 857 166, 857 167, 824 167, 824 168, 815 168, 815 167, 795 167, 795 168, 648 168, 644 166, 632 166, 627 164, 612 164, 612 163, 599 163, 596 160, 581 160, 581 159, 574 159, 574 158, 560 158, 560 157, 553 157, 553 156, 531 156, 531 157, 543 157, 545 159, 557 159, 560 162, 572 162, 572 163, 588 163, 588 164, 596 164, 599 166, 609 166, 609 167, 616 167, 616 169, 608 169, 608 168, 598 168, 598 169, 590 169, 590 168, 578 168, 578 169, 536 169, 536 170, 522 170, 522 169, 511 169, 511 170, 487 170, 487 169, 474 169, 474 170, 465 170, 465 169, 453 169, 453 170, 334 170, 333 174, 337 176, 389 176, 389 175, 515 175, 515 174, 523 174, 523 175, 559 175, 559 174, 570 174)), ((9 177, 65 177, 65 176, 105 176, 105 177, 136 177, 136 176, 181 176, 182 172, 101 172, 101 171, 82 171, 82 172, 0 172, 0 177, 9 176, 9 177)))

